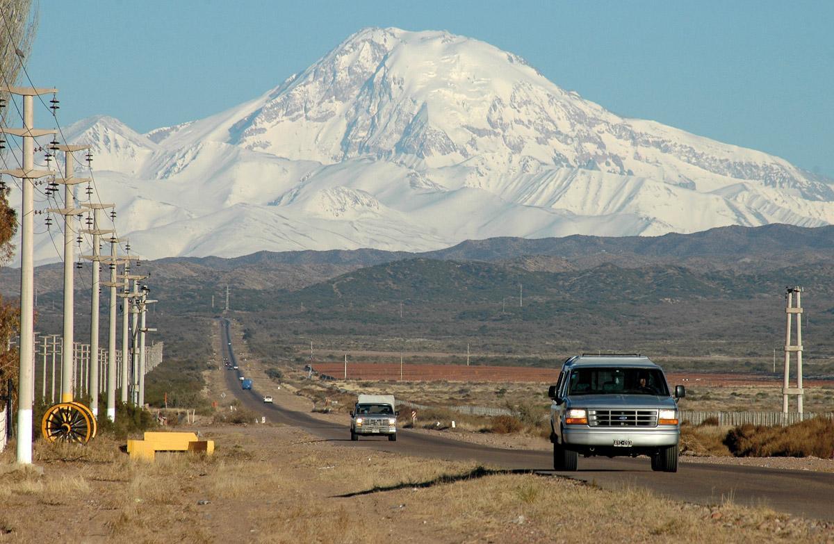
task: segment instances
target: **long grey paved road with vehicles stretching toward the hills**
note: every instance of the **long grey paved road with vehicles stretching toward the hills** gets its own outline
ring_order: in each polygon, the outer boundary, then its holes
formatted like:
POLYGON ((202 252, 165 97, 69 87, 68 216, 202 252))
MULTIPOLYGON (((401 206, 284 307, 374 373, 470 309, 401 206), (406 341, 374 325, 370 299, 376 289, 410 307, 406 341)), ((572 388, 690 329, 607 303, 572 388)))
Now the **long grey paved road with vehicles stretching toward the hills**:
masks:
MULTIPOLYGON (((236 364, 228 328, 228 321, 221 320, 221 339, 228 350, 227 356, 236 364)), ((229 390, 244 406, 259 413, 266 411, 272 421, 298 426, 324 440, 344 442, 344 446, 446 460, 475 460, 510 470, 537 471, 594 481, 596 485, 612 490, 641 486, 661 495, 701 504, 716 504, 725 497, 731 497, 736 503, 770 506, 776 511, 834 521, 834 473, 685 463, 681 463, 676 473, 666 473, 652 471, 648 459, 621 457, 580 457, 579 471, 554 472, 552 456, 547 451, 505 450, 426 436, 406 429, 398 432, 396 442, 384 438, 363 438, 352 442, 347 426, 320 421, 307 413, 288 410, 280 405, 264 405, 264 396, 259 395, 257 388, 242 390, 238 378, 239 372, 226 372, 229 390)))

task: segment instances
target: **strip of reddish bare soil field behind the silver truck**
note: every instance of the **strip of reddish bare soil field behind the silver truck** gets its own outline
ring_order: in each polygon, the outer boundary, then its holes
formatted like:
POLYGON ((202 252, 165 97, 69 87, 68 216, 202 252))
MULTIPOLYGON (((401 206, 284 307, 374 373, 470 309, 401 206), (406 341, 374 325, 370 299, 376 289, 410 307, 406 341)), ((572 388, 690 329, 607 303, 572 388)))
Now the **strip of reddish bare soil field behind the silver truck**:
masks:
MULTIPOLYGON (((319 374, 344 379, 344 363, 315 363, 319 374)), ((519 381, 555 383, 558 368, 534 368, 529 366, 482 365, 403 365, 405 381, 519 381)), ((348 363, 348 380, 400 380, 400 367, 396 363, 348 363)), ((669 385, 742 386, 760 385, 781 387, 781 376, 729 373, 673 372, 666 375, 669 385)), ((794 383, 791 380, 791 385, 794 383)), ((814 387, 831 385, 834 380, 805 380, 803 385, 814 387)))

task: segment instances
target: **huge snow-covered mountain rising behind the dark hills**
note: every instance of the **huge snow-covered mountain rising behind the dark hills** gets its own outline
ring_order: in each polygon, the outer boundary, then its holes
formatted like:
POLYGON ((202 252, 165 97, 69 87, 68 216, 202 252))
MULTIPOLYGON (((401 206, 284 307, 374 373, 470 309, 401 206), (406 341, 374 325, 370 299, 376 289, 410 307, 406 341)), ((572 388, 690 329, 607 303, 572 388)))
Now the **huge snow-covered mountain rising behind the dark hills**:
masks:
POLYGON ((621 118, 444 32, 367 28, 223 113, 64 134, 152 258, 834 222, 831 187, 783 159, 621 118))

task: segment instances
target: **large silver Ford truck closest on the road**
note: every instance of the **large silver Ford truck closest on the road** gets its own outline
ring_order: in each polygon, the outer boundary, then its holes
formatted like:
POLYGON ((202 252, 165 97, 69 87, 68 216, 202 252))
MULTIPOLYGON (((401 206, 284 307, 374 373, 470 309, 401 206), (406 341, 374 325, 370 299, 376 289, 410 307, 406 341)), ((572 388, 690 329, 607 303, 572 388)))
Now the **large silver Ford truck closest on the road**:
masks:
POLYGON ((651 457, 654 471, 676 472, 677 385, 674 398, 661 367, 643 355, 577 355, 551 385, 550 441, 556 471, 575 471, 583 456, 651 457))

